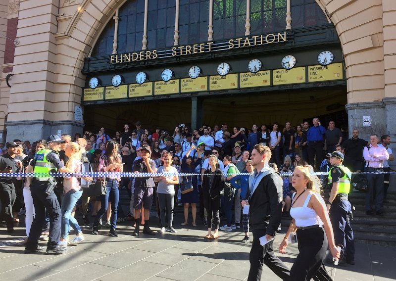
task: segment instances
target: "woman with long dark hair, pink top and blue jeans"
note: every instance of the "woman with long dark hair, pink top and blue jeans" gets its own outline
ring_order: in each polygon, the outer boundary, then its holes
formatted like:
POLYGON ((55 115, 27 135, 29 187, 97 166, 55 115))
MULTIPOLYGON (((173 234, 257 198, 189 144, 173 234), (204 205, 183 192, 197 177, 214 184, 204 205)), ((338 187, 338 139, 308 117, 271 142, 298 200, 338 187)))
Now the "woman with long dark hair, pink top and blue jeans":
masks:
MULTIPOLYGON (((106 150, 102 156, 99 158, 98 172, 120 172, 122 173, 122 160, 117 153, 118 145, 116 141, 108 141, 106 150)), ((98 235, 98 224, 99 220, 102 218, 103 214, 107 211, 108 202, 111 203, 111 228, 108 233, 109 236, 117 237, 118 234, 115 231, 117 223, 117 206, 119 200, 118 183, 120 178, 114 176, 106 177, 107 183, 107 193, 100 195, 100 210, 95 218, 94 224, 92 226, 92 234, 98 235)))

